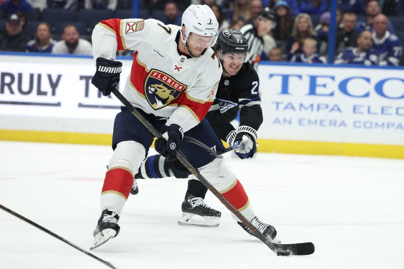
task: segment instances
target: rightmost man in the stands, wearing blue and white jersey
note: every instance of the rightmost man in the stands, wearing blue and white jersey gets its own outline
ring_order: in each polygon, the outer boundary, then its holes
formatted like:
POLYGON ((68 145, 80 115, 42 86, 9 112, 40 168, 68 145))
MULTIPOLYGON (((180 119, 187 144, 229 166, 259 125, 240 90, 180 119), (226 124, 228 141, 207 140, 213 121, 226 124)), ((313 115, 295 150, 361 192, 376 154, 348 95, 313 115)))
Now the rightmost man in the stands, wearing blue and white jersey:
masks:
POLYGON ((379 66, 398 66, 402 56, 401 42, 395 34, 390 33, 387 17, 376 16, 373 22, 373 46, 379 55, 379 66))

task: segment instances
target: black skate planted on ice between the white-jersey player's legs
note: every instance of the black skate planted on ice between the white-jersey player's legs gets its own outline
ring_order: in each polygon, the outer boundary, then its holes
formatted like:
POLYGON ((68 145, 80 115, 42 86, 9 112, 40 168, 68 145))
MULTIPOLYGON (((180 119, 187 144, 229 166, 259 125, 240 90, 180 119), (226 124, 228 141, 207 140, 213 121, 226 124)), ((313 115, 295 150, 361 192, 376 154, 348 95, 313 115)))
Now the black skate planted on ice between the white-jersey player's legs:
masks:
POLYGON ((182 217, 178 221, 183 226, 218 227, 222 213, 211 208, 201 197, 190 195, 182 202, 182 217))

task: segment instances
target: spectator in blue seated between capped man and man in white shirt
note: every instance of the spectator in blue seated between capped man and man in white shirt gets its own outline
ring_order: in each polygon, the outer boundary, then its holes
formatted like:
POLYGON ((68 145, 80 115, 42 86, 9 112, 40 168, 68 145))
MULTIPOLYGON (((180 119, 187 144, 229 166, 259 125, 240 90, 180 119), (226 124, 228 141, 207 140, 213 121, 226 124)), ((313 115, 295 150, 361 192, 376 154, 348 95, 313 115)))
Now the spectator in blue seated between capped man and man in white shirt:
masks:
POLYGON ((28 52, 52 52, 56 41, 51 37, 51 29, 47 23, 42 22, 36 28, 35 39, 28 41, 28 52))

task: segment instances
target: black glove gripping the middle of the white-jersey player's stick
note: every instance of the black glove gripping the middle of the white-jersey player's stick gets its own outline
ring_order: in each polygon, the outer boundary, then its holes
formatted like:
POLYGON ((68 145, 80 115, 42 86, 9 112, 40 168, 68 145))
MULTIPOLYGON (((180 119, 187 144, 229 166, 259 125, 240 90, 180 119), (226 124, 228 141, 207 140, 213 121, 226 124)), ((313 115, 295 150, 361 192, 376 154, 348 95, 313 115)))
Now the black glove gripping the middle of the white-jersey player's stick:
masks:
POLYGON ((178 149, 182 139, 184 138, 184 132, 181 126, 177 124, 165 125, 160 133, 163 137, 158 138, 155 142, 155 149, 159 154, 166 157, 169 162, 175 160, 175 150, 178 149))

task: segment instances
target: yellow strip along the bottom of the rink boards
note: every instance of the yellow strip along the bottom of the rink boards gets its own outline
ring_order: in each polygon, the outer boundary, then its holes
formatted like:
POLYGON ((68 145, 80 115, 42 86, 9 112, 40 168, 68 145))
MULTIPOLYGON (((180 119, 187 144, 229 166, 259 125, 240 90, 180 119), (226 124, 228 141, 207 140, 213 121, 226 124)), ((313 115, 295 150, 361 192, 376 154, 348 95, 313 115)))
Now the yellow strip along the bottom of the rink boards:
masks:
MULTIPOLYGON (((0 140, 111 145, 112 134, 0 130, 0 140)), ((404 145, 380 145, 275 139, 258 139, 258 143, 259 152, 344 155, 404 159, 404 145)))

